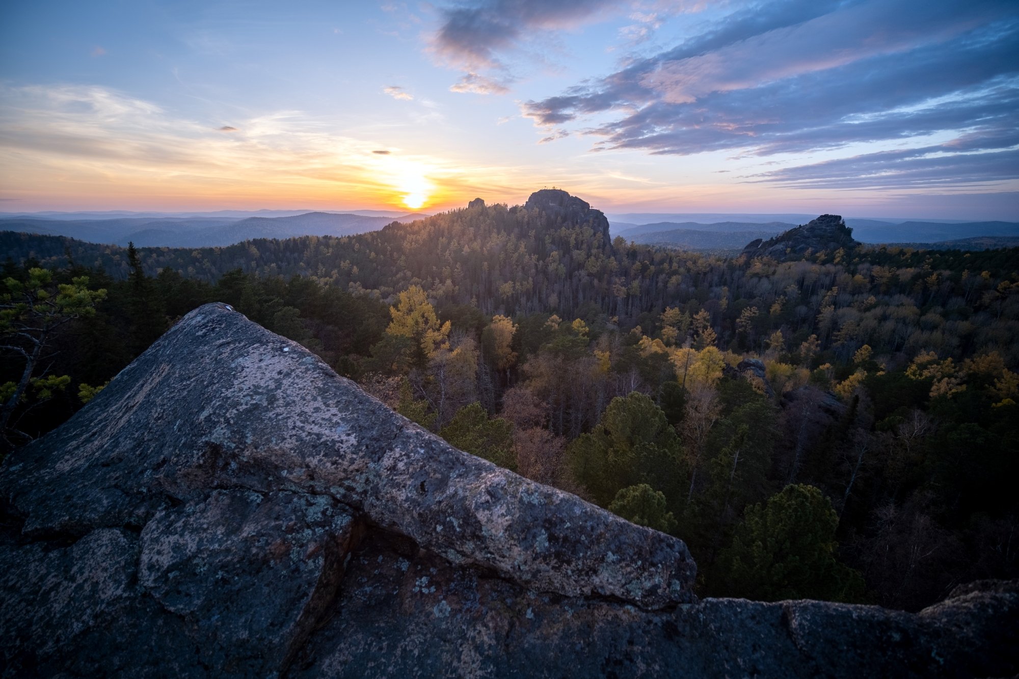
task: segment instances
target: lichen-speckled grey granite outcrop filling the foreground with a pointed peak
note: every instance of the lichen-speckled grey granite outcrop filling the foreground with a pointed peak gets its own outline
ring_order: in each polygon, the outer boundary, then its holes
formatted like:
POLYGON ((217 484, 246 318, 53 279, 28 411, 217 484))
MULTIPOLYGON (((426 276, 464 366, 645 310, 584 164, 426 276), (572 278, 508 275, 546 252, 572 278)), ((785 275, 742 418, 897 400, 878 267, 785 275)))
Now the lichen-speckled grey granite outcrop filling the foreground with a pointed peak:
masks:
POLYGON ((224 305, 0 473, 4 676, 1001 676, 1016 583, 697 603, 682 541, 457 451, 224 305))

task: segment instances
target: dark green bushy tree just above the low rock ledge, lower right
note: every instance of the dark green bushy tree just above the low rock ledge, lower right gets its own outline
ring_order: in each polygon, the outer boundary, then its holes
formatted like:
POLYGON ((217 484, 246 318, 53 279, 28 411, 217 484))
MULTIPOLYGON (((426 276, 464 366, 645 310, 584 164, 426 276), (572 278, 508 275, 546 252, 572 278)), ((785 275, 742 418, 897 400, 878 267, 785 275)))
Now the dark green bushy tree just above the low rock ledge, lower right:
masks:
POLYGON ((748 508, 721 555, 726 593, 764 602, 860 599, 863 577, 836 556, 838 525, 832 503, 812 485, 787 485, 748 508))

